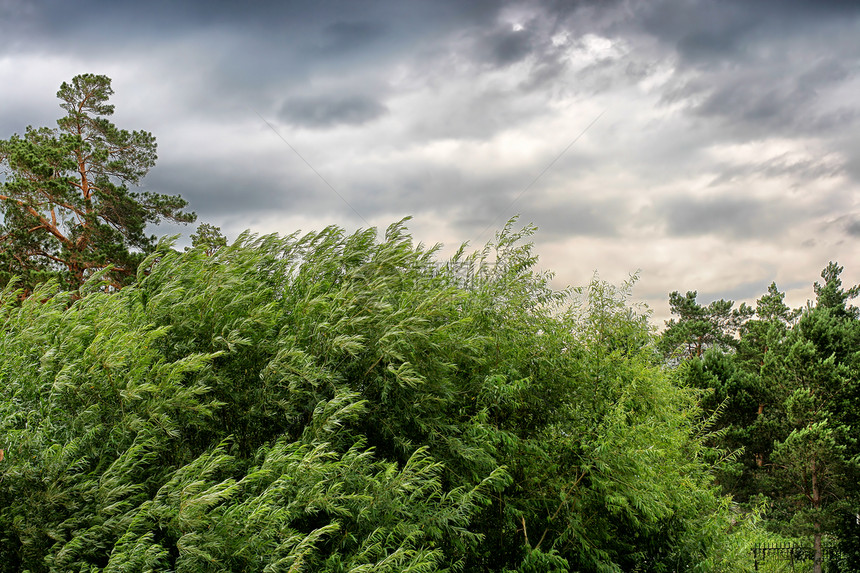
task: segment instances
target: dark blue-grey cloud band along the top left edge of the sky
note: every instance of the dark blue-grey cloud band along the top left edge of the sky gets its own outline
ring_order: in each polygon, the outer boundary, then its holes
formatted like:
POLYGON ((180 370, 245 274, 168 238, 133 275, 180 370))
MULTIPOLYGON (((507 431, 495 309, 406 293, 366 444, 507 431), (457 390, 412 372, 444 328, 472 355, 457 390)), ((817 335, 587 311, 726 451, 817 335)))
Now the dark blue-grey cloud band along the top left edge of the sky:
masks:
POLYGON ((8 18, 2 40, 27 35, 33 45, 62 43, 75 50, 105 43, 165 40, 199 31, 246 36, 250 43, 286 45, 308 40, 323 51, 343 53, 389 35, 400 40, 419 37, 439 27, 484 24, 500 5, 493 1, 417 0, 409 9, 387 0, 362 2, 283 2, 152 0, 3 0, 0 15, 8 18), (395 24, 395 25, 393 25, 395 24), (24 31, 22 31, 24 29, 24 31), (397 31, 400 30, 399 33, 397 31), (36 34, 37 37, 32 37, 36 34), (71 45, 68 42, 77 40, 71 45))

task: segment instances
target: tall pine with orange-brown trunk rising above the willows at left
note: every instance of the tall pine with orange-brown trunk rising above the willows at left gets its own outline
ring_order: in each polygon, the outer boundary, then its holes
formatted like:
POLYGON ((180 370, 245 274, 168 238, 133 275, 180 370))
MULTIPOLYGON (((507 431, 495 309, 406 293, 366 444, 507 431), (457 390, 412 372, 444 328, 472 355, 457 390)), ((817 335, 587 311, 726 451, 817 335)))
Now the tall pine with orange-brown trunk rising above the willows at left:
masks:
POLYGON ((106 76, 75 76, 57 92, 66 111, 57 128, 0 140, 2 282, 59 277, 76 288, 110 266, 119 287, 154 247, 148 224, 196 218, 179 196, 131 190, 155 165, 155 137, 107 119, 113 93, 106 76))

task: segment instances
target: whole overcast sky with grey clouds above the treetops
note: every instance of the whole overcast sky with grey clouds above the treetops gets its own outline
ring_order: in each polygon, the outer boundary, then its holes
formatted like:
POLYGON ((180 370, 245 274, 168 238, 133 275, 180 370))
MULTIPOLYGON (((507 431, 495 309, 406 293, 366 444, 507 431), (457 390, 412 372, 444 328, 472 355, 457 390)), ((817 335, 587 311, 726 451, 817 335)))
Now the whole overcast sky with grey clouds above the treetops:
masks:
POLYGON ((0 138, 88 72, 157 138, 144 188, 229 237, 412 216, 453 250, 519 215, 557 286, 639 270, 658 323, 860 282, 854 0, 0 0, 0 138))

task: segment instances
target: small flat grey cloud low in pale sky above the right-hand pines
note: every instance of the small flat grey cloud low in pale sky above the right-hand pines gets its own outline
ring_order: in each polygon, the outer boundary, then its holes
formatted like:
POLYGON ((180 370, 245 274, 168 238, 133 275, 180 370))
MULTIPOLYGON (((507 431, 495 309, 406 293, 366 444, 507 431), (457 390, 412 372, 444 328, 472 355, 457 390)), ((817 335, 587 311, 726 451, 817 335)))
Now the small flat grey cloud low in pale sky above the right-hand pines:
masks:
POLYGON ((670 235, 718 235, 733 240, 777 237, 802 215, 783 202, 731 197, 676 196, 657 207, 670 235))

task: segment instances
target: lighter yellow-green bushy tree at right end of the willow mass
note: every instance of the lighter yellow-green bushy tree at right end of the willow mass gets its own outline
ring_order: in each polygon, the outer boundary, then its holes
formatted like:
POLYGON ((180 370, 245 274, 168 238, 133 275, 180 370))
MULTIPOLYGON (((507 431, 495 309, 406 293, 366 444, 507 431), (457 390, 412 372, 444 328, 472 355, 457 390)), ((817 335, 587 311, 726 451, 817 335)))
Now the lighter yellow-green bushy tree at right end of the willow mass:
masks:
POLYGON ((696 394, 667 379, 632 284, 595 280, 556 318, 576 356, 556 370, 563 407, 505 460, 525 490, 504 500, 523 567, 549 550, 571 571, 743 570, 748 546, 728 532, 748 525, 711 485, 696 394))

